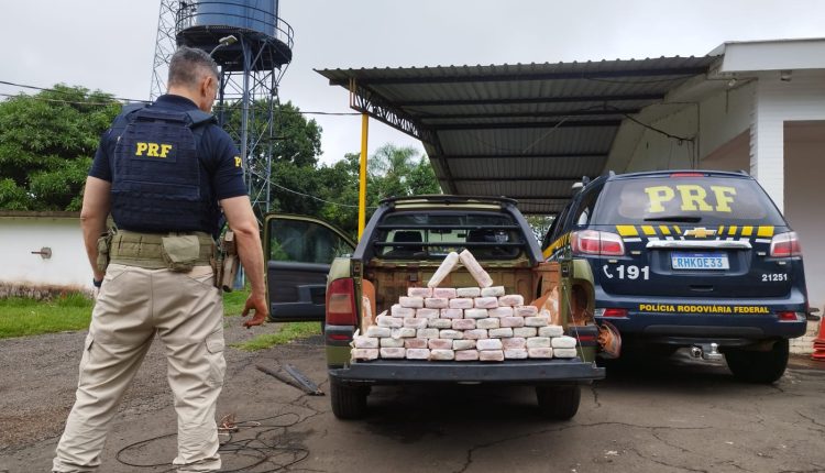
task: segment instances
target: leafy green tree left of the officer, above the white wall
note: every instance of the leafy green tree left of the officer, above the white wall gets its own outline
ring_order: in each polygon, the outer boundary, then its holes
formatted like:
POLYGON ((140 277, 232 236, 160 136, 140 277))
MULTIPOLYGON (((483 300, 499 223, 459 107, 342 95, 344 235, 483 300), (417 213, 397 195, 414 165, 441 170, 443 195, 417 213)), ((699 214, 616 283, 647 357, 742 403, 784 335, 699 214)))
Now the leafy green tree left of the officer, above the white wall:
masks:
POLYGON ((65 85, 0 102, 0 209, 79 210, 100 134, 120 109, 108 94, 65 85))

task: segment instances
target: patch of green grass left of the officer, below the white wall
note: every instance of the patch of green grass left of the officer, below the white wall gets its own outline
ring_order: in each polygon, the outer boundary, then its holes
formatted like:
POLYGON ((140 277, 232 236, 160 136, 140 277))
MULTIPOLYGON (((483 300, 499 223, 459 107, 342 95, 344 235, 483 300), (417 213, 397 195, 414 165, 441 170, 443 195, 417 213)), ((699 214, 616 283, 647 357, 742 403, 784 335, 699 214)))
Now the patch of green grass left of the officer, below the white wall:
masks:
POLYGON ((12 297, 0 300, 0 339, 84 330, 91 320, 91 300, 80 294, 50 302, 12 297))

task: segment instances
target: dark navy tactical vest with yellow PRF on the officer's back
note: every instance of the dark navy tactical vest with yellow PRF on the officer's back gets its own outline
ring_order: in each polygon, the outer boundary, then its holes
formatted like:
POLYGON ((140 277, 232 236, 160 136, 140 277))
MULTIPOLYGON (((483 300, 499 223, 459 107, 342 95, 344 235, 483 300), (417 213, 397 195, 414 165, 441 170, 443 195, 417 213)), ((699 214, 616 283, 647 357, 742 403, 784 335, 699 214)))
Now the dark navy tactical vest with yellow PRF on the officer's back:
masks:
POLYGON ((112 160, 111 212, 118 228, 211 233, 217 205, 196 135, 215 118, 154 107, 128 110, 122 118, 127 124, 112 160))

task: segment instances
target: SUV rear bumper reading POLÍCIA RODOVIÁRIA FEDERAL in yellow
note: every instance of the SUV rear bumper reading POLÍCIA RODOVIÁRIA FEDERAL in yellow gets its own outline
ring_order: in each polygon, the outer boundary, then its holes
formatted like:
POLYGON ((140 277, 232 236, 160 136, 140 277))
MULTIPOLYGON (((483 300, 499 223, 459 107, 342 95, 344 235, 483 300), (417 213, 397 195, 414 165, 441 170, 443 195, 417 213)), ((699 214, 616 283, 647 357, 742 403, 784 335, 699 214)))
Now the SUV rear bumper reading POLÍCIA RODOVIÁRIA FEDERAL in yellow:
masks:
POLYGON ((806 330, 805 298, 792 293, 782 299, 676 299, 607 295, 596 290, 596 308, 627 309, 627 317, 597 317, 609 321, 628 339, 669 344, 711 341, 745 345, 761 340, 792 339, 806 330), (779 311, 803 315, 780 321, 779 311))

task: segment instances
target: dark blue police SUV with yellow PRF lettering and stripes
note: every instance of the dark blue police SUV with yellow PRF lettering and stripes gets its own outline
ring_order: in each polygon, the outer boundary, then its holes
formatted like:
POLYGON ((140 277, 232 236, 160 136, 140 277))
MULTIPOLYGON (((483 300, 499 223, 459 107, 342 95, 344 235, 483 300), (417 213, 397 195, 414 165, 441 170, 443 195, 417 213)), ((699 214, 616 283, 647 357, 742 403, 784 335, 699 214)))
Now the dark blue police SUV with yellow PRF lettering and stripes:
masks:
MULTIPOLYGON (((601 176, 556 219, 544 257, 584 260, 595 319, 625 346, 690 346, 735 376, 772 383, 805 332, 796 233, 750 176, 654 172, 601 176)), ((563 267, 563 266, 562 266, 563 267)))

